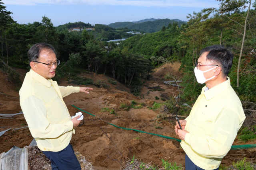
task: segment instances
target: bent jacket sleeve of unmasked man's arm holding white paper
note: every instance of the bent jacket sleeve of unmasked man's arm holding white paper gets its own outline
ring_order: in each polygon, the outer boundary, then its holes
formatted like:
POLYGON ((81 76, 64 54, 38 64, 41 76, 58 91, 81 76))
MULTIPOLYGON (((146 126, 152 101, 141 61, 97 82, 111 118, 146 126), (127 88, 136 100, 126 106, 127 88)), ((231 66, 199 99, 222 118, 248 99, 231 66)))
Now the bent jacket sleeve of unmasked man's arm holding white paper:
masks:
POLYGON ((57 138, 73 129, 72 121, 50 124, 46 118, 46 107, 35 95, 28 96, 20 102, 28 128, 34 138, 57 138))

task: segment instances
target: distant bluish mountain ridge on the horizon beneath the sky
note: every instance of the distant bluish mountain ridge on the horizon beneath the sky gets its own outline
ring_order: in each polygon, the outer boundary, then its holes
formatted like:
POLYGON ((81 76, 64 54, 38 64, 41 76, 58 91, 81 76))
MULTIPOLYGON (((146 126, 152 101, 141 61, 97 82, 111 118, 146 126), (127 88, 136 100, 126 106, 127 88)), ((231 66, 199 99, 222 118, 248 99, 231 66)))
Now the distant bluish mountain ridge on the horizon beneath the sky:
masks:
MULTIPOLYGON (((154 18, 151 18, 154 19, 154 18)), ((151 20, 146 19, 146 20, 151 20)), ((141 20, 142 21, 142 20, 141 20)), ((170 19, 154 19, 154 21, 146 21, 142 23, 133 23, 133 22, 117 22, 117 23, 111 23, 108 26, 114 27, 114 28, 120 28, 120 27, 127 27, 130 29, 138 29, 144 32, 152 33, 156 31, 160 31, 162 27, 168 26, 169 23, 177 22, 178 26, 186 23, 185 21, 181 21, 178 19, 170 20, 170 19)))

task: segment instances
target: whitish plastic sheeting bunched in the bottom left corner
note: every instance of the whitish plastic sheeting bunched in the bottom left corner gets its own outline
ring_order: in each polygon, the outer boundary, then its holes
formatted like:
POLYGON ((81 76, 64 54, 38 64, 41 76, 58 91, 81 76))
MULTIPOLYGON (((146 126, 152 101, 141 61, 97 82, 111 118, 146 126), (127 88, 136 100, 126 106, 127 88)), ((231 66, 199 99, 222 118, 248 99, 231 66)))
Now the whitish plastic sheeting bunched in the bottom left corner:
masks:
POLYGON ((0 170, 28 170, 27 147, 14 147, 0 154, 0 170))

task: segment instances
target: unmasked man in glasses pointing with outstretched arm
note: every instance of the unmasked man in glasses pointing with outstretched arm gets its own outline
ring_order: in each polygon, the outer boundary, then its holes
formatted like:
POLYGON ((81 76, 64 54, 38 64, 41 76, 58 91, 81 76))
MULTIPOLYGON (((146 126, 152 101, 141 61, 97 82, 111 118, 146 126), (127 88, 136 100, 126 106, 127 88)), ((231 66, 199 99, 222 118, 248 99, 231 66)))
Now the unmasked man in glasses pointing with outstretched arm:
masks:
POLYGON ((28 61, 31 69, 20 88, 20 106, 28 128, 38 148, 52 161, 53 170, 81 170, 70 144, 80 116, 71 119, 62 98, 72 93, 89 93, 92 88, 58 86, 51 79, 60 61, 50 44, 33 45, 28 61))

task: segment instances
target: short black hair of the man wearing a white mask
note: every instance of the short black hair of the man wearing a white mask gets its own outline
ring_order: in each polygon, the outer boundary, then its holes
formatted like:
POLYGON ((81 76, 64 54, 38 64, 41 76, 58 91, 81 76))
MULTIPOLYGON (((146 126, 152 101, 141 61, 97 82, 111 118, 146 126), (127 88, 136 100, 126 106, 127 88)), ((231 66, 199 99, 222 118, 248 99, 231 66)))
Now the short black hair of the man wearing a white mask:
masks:
POLYGON ((206 55, 206 60, 210 60, 212 63, 219 65, 222 69, 222 75, 228 76, 228 73, 233 64, 233 53, 222 45, 212 45, 205 47, 200 51, 200 56, 204 52, 208 52, 206 55))

